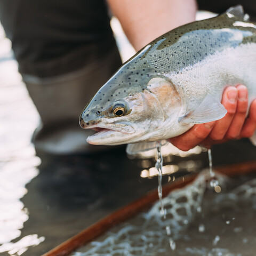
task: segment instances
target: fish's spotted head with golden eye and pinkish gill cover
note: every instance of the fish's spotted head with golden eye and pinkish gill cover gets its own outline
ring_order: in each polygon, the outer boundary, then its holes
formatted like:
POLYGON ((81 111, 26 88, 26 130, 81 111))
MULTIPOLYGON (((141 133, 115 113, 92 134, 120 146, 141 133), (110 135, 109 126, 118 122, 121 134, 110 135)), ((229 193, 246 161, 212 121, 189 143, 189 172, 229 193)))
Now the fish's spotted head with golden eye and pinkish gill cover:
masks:
POLYGON ((94 95, 80 116, 83 129, 97 131, 87 138, 87 142, 121 145, 150 140, 150 134, 159 131, 159 126, 163 126, 168 118, 163 109, 168 98, 166 87, 170 86, 167 79, 159 77, 151 68, 131 71, 124 66, 118 70, 94 95), (163 81, 166 81, 165 86, 163 81))

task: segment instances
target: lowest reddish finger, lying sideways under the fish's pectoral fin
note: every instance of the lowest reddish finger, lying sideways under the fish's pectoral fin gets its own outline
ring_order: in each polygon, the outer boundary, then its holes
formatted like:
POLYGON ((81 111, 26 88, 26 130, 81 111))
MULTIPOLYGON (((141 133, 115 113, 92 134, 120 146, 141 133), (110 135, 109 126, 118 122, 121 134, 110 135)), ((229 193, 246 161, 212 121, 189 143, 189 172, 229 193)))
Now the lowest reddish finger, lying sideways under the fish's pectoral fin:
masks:
POLYGON ((196 124, 187 132, 171 138, 169 141, 180 150, 187 151, 194 148, 209 135, 214 123, 215 121, 205 124, 196 124))

